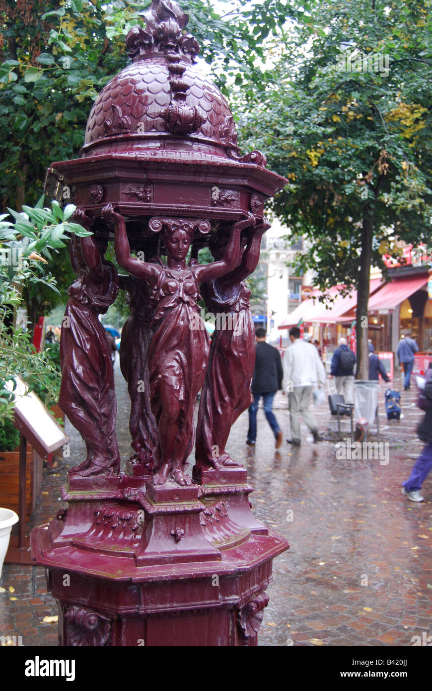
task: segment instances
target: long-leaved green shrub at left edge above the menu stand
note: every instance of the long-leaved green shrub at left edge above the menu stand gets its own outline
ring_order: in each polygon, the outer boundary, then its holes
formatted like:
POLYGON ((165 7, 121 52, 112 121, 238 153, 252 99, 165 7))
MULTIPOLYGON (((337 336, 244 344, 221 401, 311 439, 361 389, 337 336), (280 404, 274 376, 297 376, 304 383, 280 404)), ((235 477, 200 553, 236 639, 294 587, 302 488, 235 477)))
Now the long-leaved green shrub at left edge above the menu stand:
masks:
POLYGON ((55 279, 44 265, 52 260, 52 252, 66 247, 64 240, 71 233, 78 237, 90 235, 86 229, 68 220, 75 211, 70 204, 61 209, 52 202, 51 209, 42 208, 43 197, 36 207, 24 205, 18 213, 8 209, 14 222, 0 215, 0 424, 12 419, 14 396, 8 386, 17 375, 30 389, 46 392, 46 403, 56 401, 59 368, 55 349, 38 353, 31 343, 31 334, 14 323, 12 314, 23 302, 23 290, 34 285, 57 290, 55 279))

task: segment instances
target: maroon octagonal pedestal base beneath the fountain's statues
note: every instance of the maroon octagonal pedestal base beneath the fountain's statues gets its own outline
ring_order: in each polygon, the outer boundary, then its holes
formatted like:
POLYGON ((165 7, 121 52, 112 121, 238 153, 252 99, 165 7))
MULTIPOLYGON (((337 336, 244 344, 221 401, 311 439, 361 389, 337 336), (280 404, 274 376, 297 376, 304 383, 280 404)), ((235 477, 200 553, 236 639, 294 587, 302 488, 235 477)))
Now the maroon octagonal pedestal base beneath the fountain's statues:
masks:
POLYGON ((32 531, 59 600, 59 645, 257 645, 272 561, 288 544, 251 513, 243 468, 202 480, 62 488, 68 509, 32 531))

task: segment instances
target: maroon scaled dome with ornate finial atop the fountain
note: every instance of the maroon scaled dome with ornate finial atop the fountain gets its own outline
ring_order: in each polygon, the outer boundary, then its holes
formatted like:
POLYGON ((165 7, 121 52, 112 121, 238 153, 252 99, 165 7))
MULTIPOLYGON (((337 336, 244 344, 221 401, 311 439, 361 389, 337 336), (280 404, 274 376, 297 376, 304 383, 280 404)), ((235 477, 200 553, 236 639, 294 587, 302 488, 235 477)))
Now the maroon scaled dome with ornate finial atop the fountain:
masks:
POLYGON ((166 158, 177 151, 181 158, 239 160, 230 108, 195 64, 199 46, 184 31, 188 15, 172 0, 153 0, 143 15, 146 28, 136 26, 126 38, 132 64, 92 107, 81 157, 133 152, 166 158))

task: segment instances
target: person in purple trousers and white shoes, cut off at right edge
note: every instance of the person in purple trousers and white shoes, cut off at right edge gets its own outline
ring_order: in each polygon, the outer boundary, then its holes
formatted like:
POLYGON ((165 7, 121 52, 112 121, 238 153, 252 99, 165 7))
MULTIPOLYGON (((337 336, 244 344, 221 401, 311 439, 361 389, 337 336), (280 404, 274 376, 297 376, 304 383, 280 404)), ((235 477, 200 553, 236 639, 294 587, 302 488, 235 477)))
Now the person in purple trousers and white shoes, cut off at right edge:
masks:
POLYGON ((426 415, 418 428, 418 436, 422 442, 426 442, 426 446, 415 462, 411 475, 402 486, 402 494, 411 499, 411 502, 424 500, 420 494, 420 488, 432 468, 432 362, 429 363, 429 369, 426 371, 426 386, 420 397, 422 399, 420 404, 426 410, 426 415))

